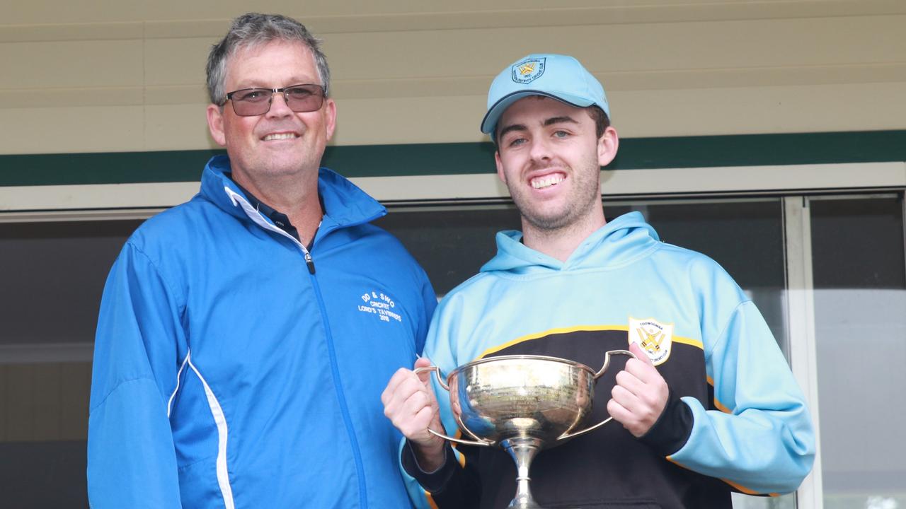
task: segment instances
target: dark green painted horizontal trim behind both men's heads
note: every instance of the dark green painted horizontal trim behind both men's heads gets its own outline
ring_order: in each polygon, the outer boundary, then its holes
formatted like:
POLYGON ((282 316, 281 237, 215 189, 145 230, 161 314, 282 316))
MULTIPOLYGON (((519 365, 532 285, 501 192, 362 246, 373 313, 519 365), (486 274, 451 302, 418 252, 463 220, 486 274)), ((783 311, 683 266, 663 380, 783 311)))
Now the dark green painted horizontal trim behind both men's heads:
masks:
MULTIPOLYGON (((708 168, 906 161, 906 130, 622 139, 608 167, 708 168)), ((0 155, 0 186, 198 181, 223 150, 0 155)), ((328 147, 323 165, 346 177, 493 173, 494 147, 431 143, 328 147)))

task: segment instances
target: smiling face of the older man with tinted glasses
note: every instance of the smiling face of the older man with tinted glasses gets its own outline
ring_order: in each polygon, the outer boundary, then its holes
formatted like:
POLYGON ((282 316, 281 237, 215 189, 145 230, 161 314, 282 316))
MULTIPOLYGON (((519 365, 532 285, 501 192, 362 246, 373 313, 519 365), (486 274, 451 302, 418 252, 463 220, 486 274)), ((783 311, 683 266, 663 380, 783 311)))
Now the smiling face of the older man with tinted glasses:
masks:
MULTIPOLYGON (((304 83, 322 84, 304 43, 272 41, 240 48, 226 63, 226 91, 304 83)), ((253 193, 265 181, 294 177, 316 181, 335 120, 333 100, 325 99, 320 110, 296 113, 281 93, 274 94, 267 113, 254 117, 236 115, 229 101, 223 107, 207 107, 211 137, 226 147, 233 178, 253 193)))

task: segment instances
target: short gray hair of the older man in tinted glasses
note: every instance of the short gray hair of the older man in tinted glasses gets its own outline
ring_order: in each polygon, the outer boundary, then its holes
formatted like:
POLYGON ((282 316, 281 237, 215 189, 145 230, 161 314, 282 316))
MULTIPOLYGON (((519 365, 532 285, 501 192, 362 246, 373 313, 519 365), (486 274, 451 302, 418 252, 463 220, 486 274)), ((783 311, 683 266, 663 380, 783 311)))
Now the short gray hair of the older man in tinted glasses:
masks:
POLYGON ((293 18, 280 14, 247 13, 233 20, 229 32, 222 41, 211 46, 211 53, 207 55, 207 95, 211 102, 220 106, 226 102, 226 61, 236 51, 278 40, 304 43, 311 50, 326 96, 331 70, 321 52, 321 40, 293 18))

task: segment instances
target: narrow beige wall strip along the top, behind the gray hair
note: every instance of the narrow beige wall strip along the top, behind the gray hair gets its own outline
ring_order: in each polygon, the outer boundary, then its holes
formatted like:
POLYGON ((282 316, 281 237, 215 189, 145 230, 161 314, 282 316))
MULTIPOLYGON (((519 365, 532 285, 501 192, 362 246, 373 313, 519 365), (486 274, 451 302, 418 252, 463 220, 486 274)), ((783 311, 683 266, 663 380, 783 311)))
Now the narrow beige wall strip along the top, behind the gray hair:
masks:
MULTIPOLYGON (((538 26, 728 22, 906 14, 897 0, 812 0, 683 5, 602 5, 473 11, 306 15, 289 13, 316 34, 415 32, 538 26)), ((146 13, 137 12, 136 17, 146 13)), ((7 20, 10 17, 7 16, 7 20)), ((12 18, 13 20, 15 18, 12 18)), ((228 19, 110 21, 98 23, 11 23, 0 25, 0 43, 217 38, 228 19)))

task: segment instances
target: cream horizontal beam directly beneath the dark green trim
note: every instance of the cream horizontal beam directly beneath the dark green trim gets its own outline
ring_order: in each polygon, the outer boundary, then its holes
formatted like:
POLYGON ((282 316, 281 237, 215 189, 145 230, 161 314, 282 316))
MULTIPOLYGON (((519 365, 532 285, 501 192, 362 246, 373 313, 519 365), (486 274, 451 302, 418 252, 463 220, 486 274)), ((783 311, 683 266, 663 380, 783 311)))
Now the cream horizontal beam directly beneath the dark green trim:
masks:
MULTIPOLYGON (((901 191, 906 162, 605 170, 602 194, 612 197, 781 196, 792 192, 901 191)), ((503 203, 495 174, 352 178, 385 204, 503 203)), ((0 223, 143 218, 198 193, 198 182, 0 187, 0 223)))

